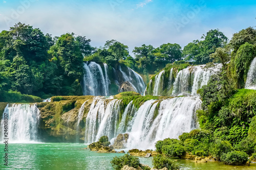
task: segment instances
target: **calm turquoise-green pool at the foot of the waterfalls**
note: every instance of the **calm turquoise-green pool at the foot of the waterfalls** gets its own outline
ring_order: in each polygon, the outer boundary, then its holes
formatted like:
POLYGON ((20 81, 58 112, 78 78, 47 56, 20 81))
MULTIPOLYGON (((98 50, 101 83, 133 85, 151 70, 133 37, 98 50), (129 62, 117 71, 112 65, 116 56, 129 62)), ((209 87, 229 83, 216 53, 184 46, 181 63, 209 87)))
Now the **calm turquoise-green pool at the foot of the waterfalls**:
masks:
MULTIPOLYGON (((113 169, 110 161, 123 154, 97 153, 78 143, 9 144, 8 166, 4 165, 4 144, 0 144, 0 169, 113 169)), ((142 164, 152 166, 152 158, 140 158, 142 164)), ((181 169, 256 169, 250 166, 229 166, 220 162, 194 163, 179 160, 181 169), (235 168, 236 167, 236 168, 235 168)))

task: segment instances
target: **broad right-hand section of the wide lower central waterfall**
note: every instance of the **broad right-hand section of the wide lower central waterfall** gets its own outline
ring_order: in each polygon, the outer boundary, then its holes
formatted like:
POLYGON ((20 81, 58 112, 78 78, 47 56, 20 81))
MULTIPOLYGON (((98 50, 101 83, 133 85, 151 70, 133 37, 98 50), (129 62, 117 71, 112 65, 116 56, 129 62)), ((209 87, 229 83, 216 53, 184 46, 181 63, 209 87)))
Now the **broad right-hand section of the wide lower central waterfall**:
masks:
POLYGON ((163 100, 154 119, 155 102, 147 101, 137 111, 127 148, 154 149, 158 140, 178 138, 197 128, 195 112, 201 104, 198 96, 163 100))

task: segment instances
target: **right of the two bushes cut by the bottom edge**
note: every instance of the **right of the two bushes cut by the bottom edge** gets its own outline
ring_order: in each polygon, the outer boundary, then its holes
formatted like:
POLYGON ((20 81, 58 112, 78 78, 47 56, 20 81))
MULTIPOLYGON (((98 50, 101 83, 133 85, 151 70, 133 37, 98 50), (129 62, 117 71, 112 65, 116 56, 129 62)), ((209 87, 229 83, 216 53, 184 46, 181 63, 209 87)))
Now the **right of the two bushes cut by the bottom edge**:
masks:
POLYGON ((176 163, 174 160, 164 157, 162 155, 157 155, 153 158, 154 168, 161 169, 167 167, 168 170, 179 169, 180 165, 176 163))

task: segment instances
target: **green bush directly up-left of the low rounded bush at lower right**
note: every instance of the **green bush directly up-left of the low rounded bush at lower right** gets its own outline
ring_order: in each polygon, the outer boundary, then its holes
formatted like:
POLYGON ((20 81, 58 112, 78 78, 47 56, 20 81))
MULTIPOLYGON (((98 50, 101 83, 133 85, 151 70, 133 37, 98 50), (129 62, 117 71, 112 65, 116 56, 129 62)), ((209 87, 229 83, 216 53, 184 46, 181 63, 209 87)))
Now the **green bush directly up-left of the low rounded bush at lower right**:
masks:
POLYGON ((233 151, 233 147, 229 141, 220 141, 216 140, 215 143, 211 147, 211 154, 216 156, 218 159, 222 156, 222 154, 226 154, 228 152, 233 151))

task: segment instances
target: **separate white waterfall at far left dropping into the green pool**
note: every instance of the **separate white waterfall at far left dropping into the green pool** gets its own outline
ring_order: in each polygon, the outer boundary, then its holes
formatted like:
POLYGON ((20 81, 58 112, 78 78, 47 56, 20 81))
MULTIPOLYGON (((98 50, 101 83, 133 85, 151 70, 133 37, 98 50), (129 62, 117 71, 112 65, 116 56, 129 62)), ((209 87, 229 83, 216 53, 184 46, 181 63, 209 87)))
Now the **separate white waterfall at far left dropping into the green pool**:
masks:
POLYGON ((7 105, 1 121, 1 137, 4 139, 4 115, 8 115, 10 143, 31 143, 38 140, 40 112, 36 105, 7 105))

